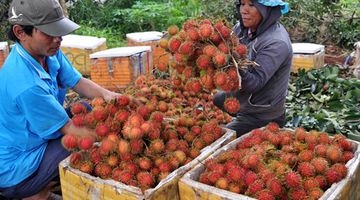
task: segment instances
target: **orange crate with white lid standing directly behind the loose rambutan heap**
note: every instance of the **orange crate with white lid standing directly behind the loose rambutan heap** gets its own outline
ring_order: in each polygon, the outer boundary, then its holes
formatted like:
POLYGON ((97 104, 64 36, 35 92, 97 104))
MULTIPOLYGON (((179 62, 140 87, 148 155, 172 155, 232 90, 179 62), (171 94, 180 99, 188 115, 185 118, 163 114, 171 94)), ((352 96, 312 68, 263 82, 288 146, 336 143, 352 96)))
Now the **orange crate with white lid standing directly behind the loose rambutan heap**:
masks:
POLYGON ((118 91, 133 83, 141 74, 152 72, 151 47, 119 47, 90 55, 91 80, 109 90, 118 91))

